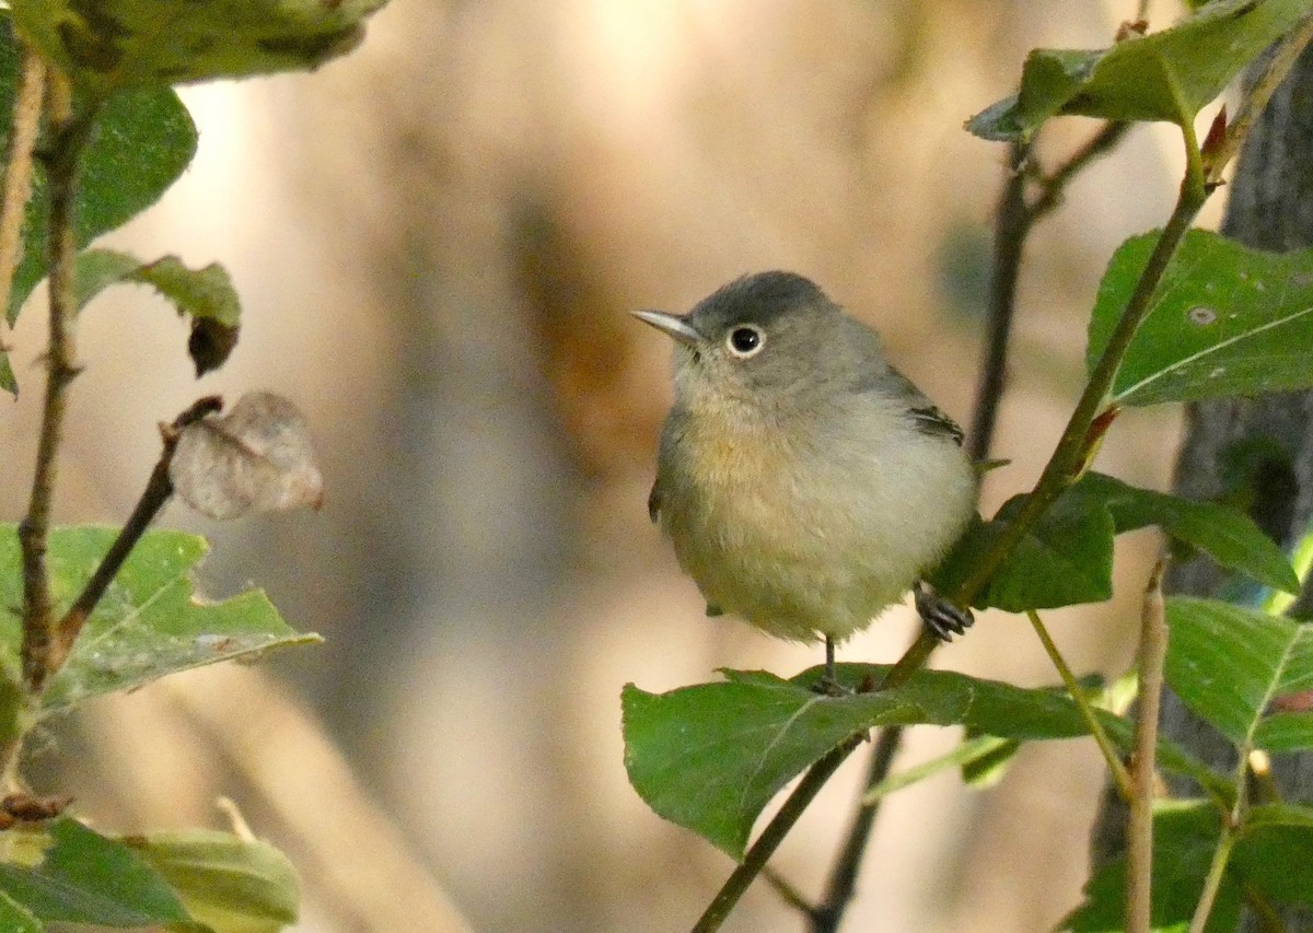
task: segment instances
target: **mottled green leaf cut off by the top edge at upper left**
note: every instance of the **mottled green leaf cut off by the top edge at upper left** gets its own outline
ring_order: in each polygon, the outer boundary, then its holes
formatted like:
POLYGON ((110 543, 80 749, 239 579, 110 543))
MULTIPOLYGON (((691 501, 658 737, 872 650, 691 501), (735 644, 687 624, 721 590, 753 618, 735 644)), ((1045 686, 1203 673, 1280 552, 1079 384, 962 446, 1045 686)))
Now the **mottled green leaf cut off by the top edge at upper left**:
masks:
POLYGON ((386 0, 13 0, 33 42, 100 96, 315 68, 355 49, 386 0))

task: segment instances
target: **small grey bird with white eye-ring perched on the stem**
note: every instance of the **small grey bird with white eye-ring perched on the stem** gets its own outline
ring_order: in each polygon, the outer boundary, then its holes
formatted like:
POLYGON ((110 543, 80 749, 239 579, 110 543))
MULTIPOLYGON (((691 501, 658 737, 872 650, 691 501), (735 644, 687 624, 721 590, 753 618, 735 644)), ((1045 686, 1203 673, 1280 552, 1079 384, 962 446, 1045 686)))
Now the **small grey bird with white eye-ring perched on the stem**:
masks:
POLYGON ((976 508, 962 432, 814 282, 747 276, 689 314, 637 311, 675 339, 675 403, 647 508, 708 614, 834 646, 916 589, 940 638, 970 613, 923 575, 976 508))

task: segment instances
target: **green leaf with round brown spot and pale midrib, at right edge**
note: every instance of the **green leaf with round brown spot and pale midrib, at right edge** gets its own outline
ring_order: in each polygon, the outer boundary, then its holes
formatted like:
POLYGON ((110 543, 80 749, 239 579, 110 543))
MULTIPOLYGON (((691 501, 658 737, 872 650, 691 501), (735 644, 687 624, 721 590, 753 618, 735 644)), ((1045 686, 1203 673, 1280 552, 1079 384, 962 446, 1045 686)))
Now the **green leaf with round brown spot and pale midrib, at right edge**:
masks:
MULTIPOLYGON (((1092 369, 1158 234, 1117 249, 1090 320, 1092 369)), ((1267 253, 1204 230, 1186 234, 1112 383, 1116 404, 1313 388, 1313 249, 1267 253)))

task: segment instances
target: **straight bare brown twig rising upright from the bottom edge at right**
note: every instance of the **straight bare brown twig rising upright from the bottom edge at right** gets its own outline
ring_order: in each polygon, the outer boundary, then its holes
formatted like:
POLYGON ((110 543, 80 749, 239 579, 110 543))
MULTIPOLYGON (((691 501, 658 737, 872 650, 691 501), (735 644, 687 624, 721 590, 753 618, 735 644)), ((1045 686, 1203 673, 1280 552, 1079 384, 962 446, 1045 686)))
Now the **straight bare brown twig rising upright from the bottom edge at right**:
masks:
POLYGON ((1136 718, 1136 752, 1130 762, 1133 787, 1127 824, 1127 933, 1149 933, 1152 925, 1154 751, 1158 747, 1162 669, 1167 657, 1163 567, 1165 562, 1159 560, 1149 576, 1141 610, 1140 711, 1136 718))

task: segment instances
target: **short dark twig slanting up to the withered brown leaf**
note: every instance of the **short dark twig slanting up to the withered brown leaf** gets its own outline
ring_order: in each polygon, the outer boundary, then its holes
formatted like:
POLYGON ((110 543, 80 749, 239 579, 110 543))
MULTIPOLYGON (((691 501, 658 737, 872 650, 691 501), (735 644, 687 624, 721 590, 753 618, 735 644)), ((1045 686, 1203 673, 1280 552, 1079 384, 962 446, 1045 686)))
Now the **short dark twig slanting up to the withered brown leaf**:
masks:
POLYGON ((114 538, 114 543, 110 545, 109 551, 101 558, 100 566, 87 581, 81 594, 74 601, 74 605, 64 617, 59 619, 55 630, 55 640, 50 647, 46 664, 49 674, 54 674, 63 665, 68 657, 68 652, 72 651, 74 642, 77 640, 77 634, 81 631, 83 625, 91 617, 92 610, 96 609, 96 604, 100 602, 109 584, 118 575, 118 571, 122 570, 123 562, 127 560, 127 555, 131 554, 137 542, 140 541, 146 529, 150 528, 151 521, 164 508, 164 504, 168 503, 169 496, 173 495, 173 480, 169 479, 169 467, 173 463, 173 451, 177 449, 177 441, 181 437, 183 429, 189 424, 200 421, 206 415, 219 411, 222 407, 223 402, 218 396, 209 395, 193 403, 192 407, 173 420, 173 424, 160 425, 160 438, 163 440, 160 458, 155 463, 155 468, 151 470, 146 488, 142 491, 140 499, 137 500, 137 507, 123 524, 118 537, 114 538))

